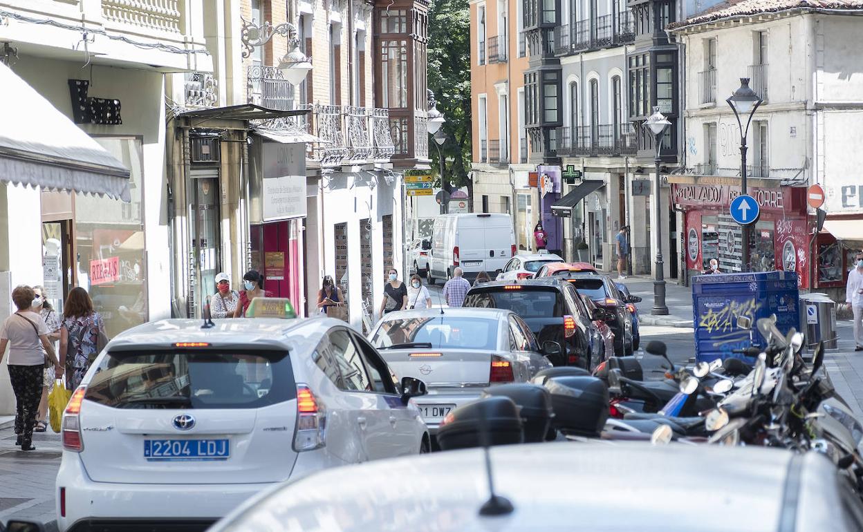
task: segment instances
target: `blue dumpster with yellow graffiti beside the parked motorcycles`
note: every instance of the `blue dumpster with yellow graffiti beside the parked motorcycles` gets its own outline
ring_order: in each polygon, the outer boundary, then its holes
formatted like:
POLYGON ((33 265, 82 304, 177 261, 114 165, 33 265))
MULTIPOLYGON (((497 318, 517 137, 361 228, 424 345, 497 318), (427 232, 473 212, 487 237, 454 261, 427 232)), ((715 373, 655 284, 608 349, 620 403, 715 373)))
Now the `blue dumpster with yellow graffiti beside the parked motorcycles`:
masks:
MULTIPOLYGON (((692 281, 696 360, 744 358, 734 349, 764 347, 755 322, 775 314, 784 335, 799 322, 797 273, 749 272, 699 275, 692 281), (753 329, 737 327, 737 316, 753 320, 753 329)), ((745 359, 746 360, 746 359, 745 359)), ((752 362, 752 359, 747 359, 752 362)))

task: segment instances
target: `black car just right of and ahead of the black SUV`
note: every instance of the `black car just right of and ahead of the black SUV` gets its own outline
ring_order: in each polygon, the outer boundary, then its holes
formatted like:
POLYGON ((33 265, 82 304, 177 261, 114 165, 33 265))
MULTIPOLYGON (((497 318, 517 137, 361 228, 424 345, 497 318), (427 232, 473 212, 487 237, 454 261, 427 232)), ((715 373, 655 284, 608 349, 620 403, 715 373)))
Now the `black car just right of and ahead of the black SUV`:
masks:
POLYGON ((606 311, 606 322, 614 332, 614 355, 633 354, 633 316, 627 308, 631 297, 624 296, 608 275, 573 273, 567 280, 601 309, 606 311))

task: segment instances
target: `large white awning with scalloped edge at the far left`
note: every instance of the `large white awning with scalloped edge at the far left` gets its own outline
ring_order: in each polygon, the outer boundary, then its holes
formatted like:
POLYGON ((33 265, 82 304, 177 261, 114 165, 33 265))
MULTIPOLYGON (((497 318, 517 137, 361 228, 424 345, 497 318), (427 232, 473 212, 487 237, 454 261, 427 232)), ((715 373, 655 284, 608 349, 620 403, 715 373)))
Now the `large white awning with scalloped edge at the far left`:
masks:
POLYGON ((130 201, 129 170, 0 63, 0 181, 130 201))

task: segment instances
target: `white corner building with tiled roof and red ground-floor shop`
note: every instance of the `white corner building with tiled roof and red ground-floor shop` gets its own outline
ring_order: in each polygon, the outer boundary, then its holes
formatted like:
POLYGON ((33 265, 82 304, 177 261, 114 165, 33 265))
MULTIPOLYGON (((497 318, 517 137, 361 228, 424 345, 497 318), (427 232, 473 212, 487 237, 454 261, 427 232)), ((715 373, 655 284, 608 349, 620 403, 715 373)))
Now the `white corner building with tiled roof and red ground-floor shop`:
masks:
POLYGON ((863 241, 854 229, 863 219, 863 3, 810 5, 746 0, 671 25, 685 50, 688 172, 669 178, 690 271, 712 257, 740 268, 740 232, 727 216, 740 191, 740 128, 725 100, 750 78, 764 100, 747 136, 749 193, 763 212, 750 237, 752 267, 797 271, 803 288, 844 285, 847 257, 863 241), (826 191, 828 221, 813 256, 805 188, 814 184, 826 191))

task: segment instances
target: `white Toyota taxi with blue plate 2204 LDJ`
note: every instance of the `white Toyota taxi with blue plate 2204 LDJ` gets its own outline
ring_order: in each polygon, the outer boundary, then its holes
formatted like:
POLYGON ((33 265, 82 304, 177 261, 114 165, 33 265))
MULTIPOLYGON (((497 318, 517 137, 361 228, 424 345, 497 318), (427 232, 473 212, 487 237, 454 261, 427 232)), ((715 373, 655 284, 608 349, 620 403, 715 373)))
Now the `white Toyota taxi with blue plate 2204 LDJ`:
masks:
MULTIPOLYGON (((256 298, 250 316, 293 316, 256 298)), ((261 488, 311 471, 428 451, 410 398, 346 323, 172 319, 118 335, 62 422, 64 530, 205 529, 261 488), (210 322, 213 323, 213 322, 210 322)))

